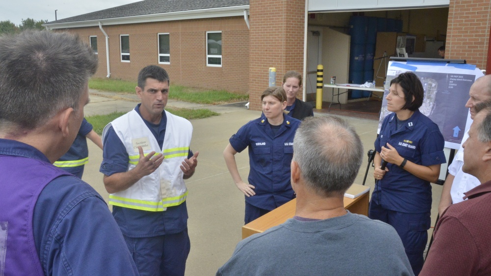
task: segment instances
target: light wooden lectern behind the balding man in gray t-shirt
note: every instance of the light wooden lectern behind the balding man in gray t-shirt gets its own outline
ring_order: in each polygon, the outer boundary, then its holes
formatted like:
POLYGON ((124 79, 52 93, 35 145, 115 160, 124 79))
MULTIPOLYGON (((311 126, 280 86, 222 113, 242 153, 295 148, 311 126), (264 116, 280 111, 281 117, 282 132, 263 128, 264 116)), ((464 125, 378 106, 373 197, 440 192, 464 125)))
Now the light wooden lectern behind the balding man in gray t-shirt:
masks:
MULTIPOLYGON (((364 193, 356 198, 349 198, 345 196, 344 208, 350 210, 350 212, 354 214, 368 216, 368 195, 369 193, 364 193)), ((293 218, 293 216, 295 216, 296 205, 297 198, 294 198, 268 214, 242 226, 242 238, 245 239, 252 234, 262 233, 273 226, 279 225, 286 220, 293 218)))

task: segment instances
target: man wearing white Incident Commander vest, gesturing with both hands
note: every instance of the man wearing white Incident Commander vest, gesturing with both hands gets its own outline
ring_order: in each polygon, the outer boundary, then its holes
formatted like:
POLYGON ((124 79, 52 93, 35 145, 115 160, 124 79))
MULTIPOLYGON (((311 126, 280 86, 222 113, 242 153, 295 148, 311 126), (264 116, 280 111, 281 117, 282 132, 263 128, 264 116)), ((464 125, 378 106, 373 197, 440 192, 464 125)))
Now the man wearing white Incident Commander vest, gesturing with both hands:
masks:
POLYGON ((191 123, 164 110, 167 72, 155 65, 138 74, 141 103, 103 131, 104 185, 140 275, 184 275, 190 251, 188 190, 198 152, 191 123))

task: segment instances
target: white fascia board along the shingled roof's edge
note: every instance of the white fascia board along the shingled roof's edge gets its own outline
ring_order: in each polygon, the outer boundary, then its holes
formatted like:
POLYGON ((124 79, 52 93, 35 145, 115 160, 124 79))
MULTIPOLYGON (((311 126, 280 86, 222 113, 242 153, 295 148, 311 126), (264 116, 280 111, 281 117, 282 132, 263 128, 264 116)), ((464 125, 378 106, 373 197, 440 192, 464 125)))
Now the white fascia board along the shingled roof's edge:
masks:
POLYGON ((162 21, 175 21, 175 20, 190 20, 190 19, 203 19, 203 18, 217 18, 217 17, 231 17, 231 16, 244 16, 244 9, 248 9, 249 5, 190 10, 190 11, 177 11, 158 14, 146 14, 128 17, 107 18, 99 20, 86 20, 78 22, 65 22, 65 23, 53 23, 43 24, 42 26, 50 29, 59 28, 83 28, 83 27, 98 27, 99 22, 103 26, 109 25, 124 25, 124 24, 137 24, 137 23, 150 23, 150 22, 162 22, 162 21))

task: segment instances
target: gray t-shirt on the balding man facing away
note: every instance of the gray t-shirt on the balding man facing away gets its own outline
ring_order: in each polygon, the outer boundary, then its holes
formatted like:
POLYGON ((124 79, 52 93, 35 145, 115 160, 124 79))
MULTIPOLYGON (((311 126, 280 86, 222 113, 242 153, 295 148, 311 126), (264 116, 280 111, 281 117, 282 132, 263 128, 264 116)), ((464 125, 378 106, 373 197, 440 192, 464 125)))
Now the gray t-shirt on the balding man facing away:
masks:
POLYGON ((217 275, 413 275, 395 229, 357 214, 289 219, 241 241, 217 275))

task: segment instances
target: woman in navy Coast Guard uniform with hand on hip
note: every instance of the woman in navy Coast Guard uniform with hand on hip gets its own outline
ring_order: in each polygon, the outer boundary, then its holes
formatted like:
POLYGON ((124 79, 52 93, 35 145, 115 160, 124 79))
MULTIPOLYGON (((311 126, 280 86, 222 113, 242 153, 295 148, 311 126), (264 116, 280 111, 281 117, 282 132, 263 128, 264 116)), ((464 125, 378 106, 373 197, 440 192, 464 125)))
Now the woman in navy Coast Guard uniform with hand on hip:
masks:
POLYGON ((290 183, 290 163, 300 120, 283 112, 287 103, 281 87, 268 87, 261 101, 261 117, 241 127, 223 152, 235 185, 246 195, 246 224, 295 197, 290 183), (242 180, 235 162, 235 154, 246 147, 249 148, 249 183, 242 180))

